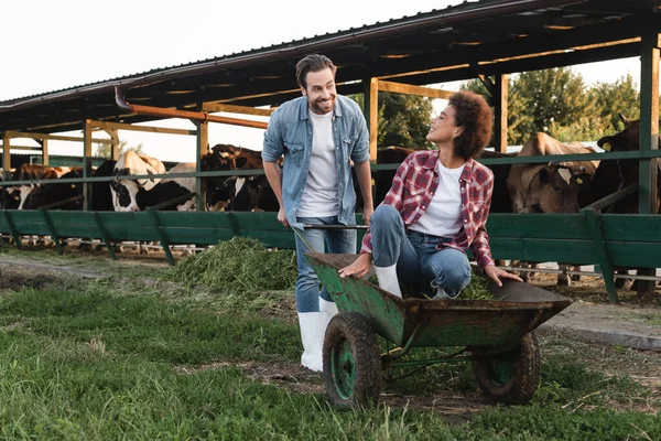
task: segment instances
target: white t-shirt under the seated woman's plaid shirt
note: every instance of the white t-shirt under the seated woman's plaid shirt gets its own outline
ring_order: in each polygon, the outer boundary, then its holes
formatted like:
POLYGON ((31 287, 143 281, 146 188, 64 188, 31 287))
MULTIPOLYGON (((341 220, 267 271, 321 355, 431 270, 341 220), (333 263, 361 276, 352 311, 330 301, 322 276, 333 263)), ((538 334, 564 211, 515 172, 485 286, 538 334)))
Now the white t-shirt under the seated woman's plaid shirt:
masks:
POLYGON ((463 164, 457 169, 447 169, 441 161, 436 163, 438 187, 432 196, 430 206, 411 224, 409 229, 433 236, 454 237, 462 229, 460 209, 462 193, 459 178, 464 171, 463 164))

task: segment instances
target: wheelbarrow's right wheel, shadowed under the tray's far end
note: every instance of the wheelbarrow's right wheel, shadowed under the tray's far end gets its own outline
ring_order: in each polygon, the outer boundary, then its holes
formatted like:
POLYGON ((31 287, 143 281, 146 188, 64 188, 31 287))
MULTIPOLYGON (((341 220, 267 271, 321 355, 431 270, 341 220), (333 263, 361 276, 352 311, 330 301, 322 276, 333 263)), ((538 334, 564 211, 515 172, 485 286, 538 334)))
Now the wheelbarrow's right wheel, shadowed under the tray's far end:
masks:
POLYGON ((512 349, 489 354, 473 351, 473 373, 480 389, 492 401, 523 405, 540 384, 540 349, 534 332, 521 338, 512 349))

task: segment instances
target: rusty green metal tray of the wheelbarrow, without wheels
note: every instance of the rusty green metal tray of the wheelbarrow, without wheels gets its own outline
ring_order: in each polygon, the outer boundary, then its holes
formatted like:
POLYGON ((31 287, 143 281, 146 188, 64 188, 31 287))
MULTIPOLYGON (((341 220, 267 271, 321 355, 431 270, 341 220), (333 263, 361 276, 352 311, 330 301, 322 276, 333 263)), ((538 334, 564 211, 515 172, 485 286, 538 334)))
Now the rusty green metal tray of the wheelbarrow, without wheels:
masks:
POLYGON ((410 347, 502 347, 567 308, 563 295, 514 280, 488 284, 499 300, 402 300, 367 280, 340 278, 358 255, 310 252, 306 258, 340 312, 360 313, 382 337, 410 347))

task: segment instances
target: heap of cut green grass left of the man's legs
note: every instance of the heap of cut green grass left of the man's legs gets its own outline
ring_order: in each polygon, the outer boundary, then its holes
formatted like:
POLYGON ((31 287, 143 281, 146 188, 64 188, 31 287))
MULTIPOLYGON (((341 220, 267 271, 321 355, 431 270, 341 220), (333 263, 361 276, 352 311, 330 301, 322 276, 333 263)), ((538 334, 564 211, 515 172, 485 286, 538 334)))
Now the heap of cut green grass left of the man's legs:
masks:
POLYGON ((296 275, 294 251, 268 250, 257 239, 235 237, 182 259, 166 278, 187 287, 202 284, 247 293, 293 289, 296 275))

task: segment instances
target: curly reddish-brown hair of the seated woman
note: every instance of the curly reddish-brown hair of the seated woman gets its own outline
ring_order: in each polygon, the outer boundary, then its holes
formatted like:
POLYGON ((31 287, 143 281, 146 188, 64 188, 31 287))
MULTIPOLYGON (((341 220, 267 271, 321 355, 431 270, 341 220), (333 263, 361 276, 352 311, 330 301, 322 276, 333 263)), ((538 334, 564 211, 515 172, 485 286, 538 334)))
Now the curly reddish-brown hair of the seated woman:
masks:
POLYGON ((447 104, 455 109, 455 125, 464 128, 462 135, 454 139, 455 154, 465 160, 476 158, 491 139, 491 108, 485 98, 469 90, 457 92, 447 104))

